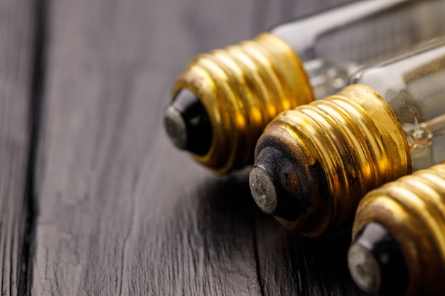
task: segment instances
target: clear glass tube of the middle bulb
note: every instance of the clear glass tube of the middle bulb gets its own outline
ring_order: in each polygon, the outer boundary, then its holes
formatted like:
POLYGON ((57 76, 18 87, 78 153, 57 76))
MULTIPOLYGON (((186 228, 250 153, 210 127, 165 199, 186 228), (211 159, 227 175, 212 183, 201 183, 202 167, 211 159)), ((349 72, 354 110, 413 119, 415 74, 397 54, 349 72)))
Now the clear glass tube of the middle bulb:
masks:
POLYGON ((413 170, 445 159, 445 42, 365 68, 351 77, 380 94, 402 125, 413 170))

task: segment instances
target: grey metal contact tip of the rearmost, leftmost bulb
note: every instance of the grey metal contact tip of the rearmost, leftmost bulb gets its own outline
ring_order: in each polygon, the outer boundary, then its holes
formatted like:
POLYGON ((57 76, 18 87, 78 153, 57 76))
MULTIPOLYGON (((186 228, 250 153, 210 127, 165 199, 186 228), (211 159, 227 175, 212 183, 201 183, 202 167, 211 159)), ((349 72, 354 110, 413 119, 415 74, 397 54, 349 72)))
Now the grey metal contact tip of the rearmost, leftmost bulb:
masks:
POLYGON ((187 126, 181 112, 175 106, 168 105, 163 114, 163 123, 173 144, 179 149, 185 149, 187 146, 187 126))

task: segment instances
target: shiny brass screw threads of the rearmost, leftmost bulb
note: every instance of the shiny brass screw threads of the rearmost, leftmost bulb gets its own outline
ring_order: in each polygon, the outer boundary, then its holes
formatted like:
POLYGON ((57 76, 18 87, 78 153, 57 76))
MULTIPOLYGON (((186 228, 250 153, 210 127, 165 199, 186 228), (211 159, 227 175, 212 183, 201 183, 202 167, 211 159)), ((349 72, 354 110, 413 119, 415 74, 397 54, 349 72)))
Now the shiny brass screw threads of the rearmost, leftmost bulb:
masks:
POLYGON ((200 98, 213 133, 208 153, 193 158, 217 172, 252 163, 269 121, 313 100, 299 57, 270 33, 198 55, 176 80, 173 94, 183 87, 200 98))

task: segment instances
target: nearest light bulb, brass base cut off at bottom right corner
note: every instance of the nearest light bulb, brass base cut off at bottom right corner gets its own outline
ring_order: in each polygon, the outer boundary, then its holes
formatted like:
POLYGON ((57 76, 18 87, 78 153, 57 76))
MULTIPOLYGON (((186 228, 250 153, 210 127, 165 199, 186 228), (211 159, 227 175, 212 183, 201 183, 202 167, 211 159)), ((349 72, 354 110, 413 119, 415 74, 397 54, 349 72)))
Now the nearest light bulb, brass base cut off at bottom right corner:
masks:
POLYGON ((372 295, 444 295, 445 162, 365 195, 348 266, 372 295))

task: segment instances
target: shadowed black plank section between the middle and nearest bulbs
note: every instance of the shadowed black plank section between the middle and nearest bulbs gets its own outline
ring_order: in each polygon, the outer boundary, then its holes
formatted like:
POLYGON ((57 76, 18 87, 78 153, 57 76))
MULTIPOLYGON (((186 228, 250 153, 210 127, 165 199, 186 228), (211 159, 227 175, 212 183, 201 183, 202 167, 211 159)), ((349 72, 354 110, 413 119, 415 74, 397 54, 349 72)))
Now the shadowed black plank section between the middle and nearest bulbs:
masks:
POLYGON ((350 229, 306 239, 265 219, 255 225, 262 295, 365 295, 350 278, 350 229))

